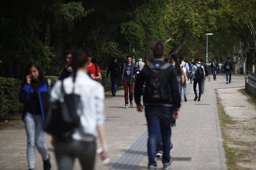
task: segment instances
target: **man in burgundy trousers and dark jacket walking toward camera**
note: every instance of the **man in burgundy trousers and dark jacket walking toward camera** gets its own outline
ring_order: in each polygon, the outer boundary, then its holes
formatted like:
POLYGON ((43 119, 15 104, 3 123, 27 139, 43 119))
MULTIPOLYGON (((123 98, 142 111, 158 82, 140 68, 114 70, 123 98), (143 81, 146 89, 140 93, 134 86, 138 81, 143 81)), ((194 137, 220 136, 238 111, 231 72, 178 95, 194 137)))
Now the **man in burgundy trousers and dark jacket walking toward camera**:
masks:
POLYGON ((124 108, 128 108, 128 93, 129 93, 129 100, 130 100, 130 107, 133 107, 133 84, 136 74, 137 67, 134 63, 132 63, 132 57, 127 57, 127 62, 125 62, 121 67, 121 75, 122 75, 122 82, 124 83, 124 100, 125 106, 124 108))

